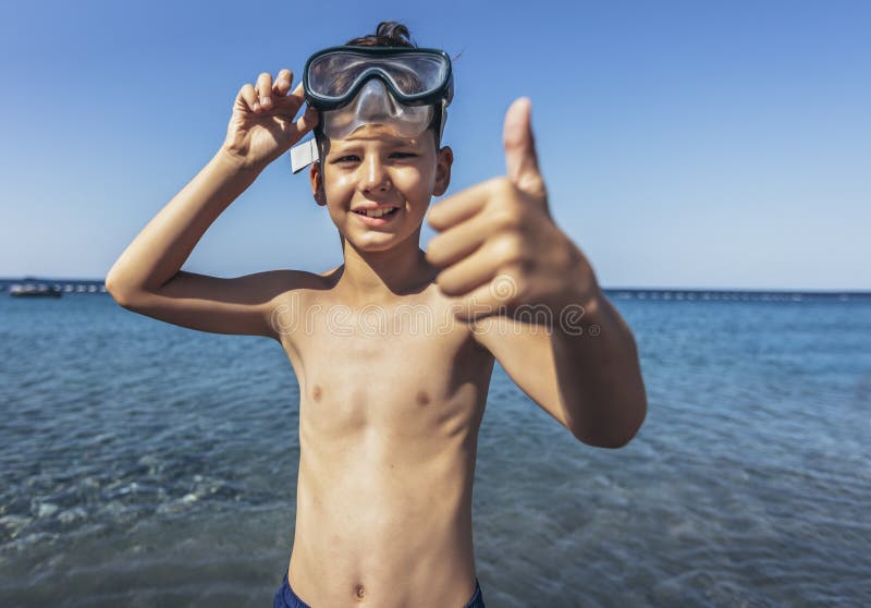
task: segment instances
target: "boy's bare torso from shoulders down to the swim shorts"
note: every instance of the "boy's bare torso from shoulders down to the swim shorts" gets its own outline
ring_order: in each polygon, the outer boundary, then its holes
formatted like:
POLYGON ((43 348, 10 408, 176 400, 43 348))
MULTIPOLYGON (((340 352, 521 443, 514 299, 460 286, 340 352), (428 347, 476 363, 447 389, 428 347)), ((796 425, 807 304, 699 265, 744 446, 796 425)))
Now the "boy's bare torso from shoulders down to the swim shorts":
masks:
POLYGON ((281 302, 299 382, 290 584, 314 608, 462 608, 493 357, 434 284, 352 309, 318 280, 281 302))

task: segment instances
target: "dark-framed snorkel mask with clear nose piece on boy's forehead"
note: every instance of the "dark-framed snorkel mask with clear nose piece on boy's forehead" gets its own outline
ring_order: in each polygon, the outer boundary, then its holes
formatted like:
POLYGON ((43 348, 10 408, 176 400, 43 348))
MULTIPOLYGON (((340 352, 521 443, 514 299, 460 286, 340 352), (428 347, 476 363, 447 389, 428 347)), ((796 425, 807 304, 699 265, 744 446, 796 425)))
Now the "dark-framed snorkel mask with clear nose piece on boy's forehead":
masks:
POLYGON ((438 120, 441 141, 454 77, 451 58, 441 50, 331 47, 308 58, 303 88, 320 115, 316 137, 291 149, 294 173, 318 160, 318 139, 343 139, 367 124, 416 137, 438 120))

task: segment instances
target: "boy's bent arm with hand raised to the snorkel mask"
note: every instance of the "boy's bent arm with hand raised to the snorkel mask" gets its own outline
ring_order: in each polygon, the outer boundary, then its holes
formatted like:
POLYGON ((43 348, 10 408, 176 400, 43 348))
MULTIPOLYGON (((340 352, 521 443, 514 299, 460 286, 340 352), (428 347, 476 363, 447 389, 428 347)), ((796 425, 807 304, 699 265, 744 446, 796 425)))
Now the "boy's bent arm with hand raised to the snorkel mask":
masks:
POLYGON ((219 279, 182 270, 206 230, 260 174, 310 131, 316 121, 303 105, 302 86, 287 95, 292 74, 272 85, 260 74, 236 96, 224 144, 203 170, 127 245, 106 277, 106 288, 130 311, 216 333, 277 337, 270 323, 274 299, 309 280, 280 270, 219 279), (266 101, 269 99, 269 101, 266 101))

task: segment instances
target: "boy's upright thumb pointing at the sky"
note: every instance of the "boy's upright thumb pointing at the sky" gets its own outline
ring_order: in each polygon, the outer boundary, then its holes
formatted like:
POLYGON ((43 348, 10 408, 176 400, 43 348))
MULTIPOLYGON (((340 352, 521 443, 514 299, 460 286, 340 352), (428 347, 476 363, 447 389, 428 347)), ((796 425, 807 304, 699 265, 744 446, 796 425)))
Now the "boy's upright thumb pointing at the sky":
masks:
POLYGON ((543 196, 544 180, 538 169, 531 114, 532 102, 528 97, 515 99, 505 114, 505 127, 502 133, 505 168, 508 179, 518 189, 528 194, 543 196))

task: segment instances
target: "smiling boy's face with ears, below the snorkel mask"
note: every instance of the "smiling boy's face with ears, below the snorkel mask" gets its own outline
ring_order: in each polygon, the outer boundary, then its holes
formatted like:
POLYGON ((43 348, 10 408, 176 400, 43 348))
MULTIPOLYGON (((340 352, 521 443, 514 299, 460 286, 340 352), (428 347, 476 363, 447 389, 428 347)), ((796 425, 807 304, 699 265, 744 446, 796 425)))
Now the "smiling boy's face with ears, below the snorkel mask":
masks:
POLYGON ((345 139, 330 139, 326 158, 311 166, 315 200, 327 206, 340 233, 358 250, 388 251, 419 236, 430 198, 444 194, 451 181, 453 153, 446 146, 437 151, 433 137, 430 129, 404 138, 389 126, 369 124, 345 139), (398 209, 376 220, 354 210, 372 203, 398 209))

